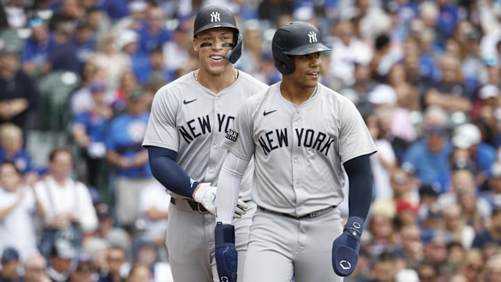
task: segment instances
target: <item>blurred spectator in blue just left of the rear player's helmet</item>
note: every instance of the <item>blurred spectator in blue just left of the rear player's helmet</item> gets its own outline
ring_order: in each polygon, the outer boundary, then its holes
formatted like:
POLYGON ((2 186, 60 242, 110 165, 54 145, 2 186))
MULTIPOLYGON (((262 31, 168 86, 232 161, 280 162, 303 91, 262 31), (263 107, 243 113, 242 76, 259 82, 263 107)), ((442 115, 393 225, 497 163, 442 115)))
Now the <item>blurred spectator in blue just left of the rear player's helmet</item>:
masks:
POLYGON ((148 17, 139 29, 139 49, 142 52, 151 52, 170 40, 170 32, 164 27, 164 10, 153 7, 148 10, 148 17))

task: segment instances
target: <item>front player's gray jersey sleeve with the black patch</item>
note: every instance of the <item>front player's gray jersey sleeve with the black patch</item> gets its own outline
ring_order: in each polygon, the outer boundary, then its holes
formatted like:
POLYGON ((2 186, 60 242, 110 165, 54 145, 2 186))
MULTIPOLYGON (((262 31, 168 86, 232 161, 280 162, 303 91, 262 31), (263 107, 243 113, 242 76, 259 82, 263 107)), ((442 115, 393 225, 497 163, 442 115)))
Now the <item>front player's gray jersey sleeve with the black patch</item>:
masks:
POLYGON ((250 160, 254 153, 252 99, 246 100, 223 140, 223 148, 235 156, 250 160))

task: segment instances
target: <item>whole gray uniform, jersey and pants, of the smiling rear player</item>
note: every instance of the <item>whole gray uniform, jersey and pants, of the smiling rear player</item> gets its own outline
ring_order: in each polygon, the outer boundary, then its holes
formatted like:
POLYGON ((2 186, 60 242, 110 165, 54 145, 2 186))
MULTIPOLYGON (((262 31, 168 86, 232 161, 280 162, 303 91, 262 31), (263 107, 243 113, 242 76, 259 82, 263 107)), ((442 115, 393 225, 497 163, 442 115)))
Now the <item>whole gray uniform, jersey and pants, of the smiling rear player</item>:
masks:
MULTIPOLYGON (((241 104, 266 84, 239 72, 228 88, 214 93, 190 72, 157 91, 143 146, 175 150, 179 164, 191 178, 217 185, 226 150, 221 143, 241 104)), ((253 164, 242 179, 244 201, 250 200, 253 164)), ((180 195, 173 194, 175 198, 180 195)), ((234 221, 239 272, 244 272, 248 233, 256 210, 249 202, 244 217, 234 221)), ((216 217, 193 211, 186 201, 169 206, 166 245, 173 278, 178 282, 218 281, 214 259, 216 217)), ((241 279, 239 278, 239 282, 241 279)))

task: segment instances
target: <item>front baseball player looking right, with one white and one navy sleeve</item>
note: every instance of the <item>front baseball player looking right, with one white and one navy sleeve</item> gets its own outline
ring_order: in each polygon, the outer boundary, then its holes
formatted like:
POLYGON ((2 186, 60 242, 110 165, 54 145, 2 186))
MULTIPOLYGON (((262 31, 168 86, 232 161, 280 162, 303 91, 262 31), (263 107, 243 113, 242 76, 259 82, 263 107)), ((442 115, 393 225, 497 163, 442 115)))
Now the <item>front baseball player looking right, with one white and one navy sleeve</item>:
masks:
POLYGON ((293 275, 296 282, 342 281, 358 262, 372 196, 369 155, 376 147, 353 103, 319 84, 320 56, 327 50, 312 24, 281 26, 272 51, 283 80, 246 100, 226 134, 216 196, 221 281, 236 281, 232 214, 252 156, 258 208, 244 282, 286 282, 293 275), (350 185, 344 230, 337 209, 343 167, 350 185))

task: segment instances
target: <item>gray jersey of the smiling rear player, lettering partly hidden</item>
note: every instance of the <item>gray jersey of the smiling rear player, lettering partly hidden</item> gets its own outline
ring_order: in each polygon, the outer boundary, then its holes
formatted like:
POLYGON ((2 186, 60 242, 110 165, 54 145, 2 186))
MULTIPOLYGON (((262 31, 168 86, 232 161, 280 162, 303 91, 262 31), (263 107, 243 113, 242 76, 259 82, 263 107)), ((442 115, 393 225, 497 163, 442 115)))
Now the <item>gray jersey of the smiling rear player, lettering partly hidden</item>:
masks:
MULTIPOLYGON (((143 146, 176 151, 177 164, 191 178, 216 186, 225 155, 221 142, 242 102, 265 87, 239 72, 237 81, 216 95, 190 72, 155 95, 143 146)), ((242 179, 244 201, 250 200, 251 177, 250 164, 242 179)))

